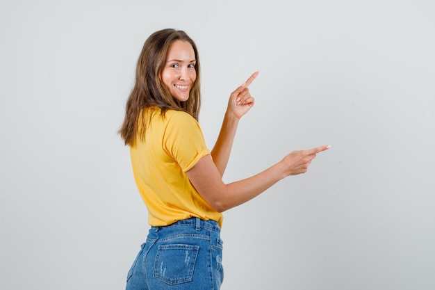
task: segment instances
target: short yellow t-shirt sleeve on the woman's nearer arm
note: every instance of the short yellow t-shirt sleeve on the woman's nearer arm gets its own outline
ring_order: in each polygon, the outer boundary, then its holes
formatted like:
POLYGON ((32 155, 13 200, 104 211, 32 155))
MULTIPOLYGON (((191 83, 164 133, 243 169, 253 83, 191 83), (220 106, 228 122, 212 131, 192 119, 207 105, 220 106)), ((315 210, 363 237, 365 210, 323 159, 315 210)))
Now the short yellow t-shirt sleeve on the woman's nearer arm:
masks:
POLYGON ((203 156, 210 154, 206 147, 201 127, 195 118, 186 112, 176 112, 167 122, 163 147, 181 167, 190 170, 203 156))

